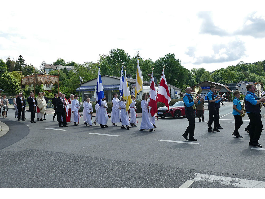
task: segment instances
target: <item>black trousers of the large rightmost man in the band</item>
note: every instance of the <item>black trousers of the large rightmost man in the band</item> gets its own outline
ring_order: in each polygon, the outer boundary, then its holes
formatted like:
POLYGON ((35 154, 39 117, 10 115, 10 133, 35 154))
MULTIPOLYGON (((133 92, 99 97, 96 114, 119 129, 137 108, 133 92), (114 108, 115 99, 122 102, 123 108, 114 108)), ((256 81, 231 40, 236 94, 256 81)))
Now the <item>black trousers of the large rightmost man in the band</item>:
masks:
POLYGON ((248 113, 249 116, 249 141, 252 144, 258 144, 259 138, 261 135, 261 131, 263 128, 262 122, 261 122, 261 115, 255 114, 255 113, 248 113))

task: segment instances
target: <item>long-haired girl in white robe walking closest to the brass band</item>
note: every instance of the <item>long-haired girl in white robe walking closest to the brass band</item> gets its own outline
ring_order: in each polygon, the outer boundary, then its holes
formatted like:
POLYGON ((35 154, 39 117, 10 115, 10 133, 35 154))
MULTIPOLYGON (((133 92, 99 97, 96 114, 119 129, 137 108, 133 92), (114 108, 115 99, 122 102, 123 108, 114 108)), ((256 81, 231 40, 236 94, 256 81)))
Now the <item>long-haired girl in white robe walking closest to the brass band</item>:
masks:
POLYGON ((140 131, 145 131, 145 129, 149 129, 149 131, 154 131, 153 124, 150 122, 148 110, 151 109, 150 106, 147 104, 147 94, 143 93, 142 101, 141 101, 141 108, 142 108, 142 123, 140 126, 140 131))

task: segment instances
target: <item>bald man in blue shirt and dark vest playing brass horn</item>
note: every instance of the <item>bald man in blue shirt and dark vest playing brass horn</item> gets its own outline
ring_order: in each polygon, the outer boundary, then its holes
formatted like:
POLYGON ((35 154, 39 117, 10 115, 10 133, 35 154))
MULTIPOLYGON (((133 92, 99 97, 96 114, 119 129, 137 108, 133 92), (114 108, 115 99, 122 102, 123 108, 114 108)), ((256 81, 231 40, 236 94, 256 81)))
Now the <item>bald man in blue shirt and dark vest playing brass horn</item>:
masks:
POLYGON ((192 92, 191 87, 187 87, 185 89, 185 92, 186 94, 183 97, 183 101, 184 101, 185 115, 189 121, 189 125, 186 131, 184 132, 184 134, 182 135, 182 137, 184 137, 185 140, 197 141, 197 139, 194 139, 193 137, 194 131, 195 131, 195 114, 194 114, 193 105, 200 104, 202 99, 198 101, 195 98, 195 100, 193 101, 193 98, 191 96, 191 92, 192 92), (188 134, 189 134, 189 138, 188 138, 188 134))

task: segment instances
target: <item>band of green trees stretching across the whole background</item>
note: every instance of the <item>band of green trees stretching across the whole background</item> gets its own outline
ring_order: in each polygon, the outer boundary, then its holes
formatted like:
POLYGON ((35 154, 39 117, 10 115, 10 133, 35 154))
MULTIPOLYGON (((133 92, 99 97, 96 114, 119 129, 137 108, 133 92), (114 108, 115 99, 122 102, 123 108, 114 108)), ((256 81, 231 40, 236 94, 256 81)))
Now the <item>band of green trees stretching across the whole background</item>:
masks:
MULTIPOLYGON (((131 57, 122 49, 112 49, 109 54, 100 55, 98 62, 100 63, 101 75, 110 75, 120 77, 122 63, 126 66, 126 74, 131 74, 132 78, 136 78, 136 64, 139 57, 140 68, 143 73, 143 79, 149 81, 152 67, 153 73, 158 82, 161 77, 161 72, 165 66, 165 76, 168 84, 180 88, 183 92, 188 86, 195 85, 202 81, 208 80, 221 84, 237 83, 238 81, 260 81, 265 83, 265 60, 255 63, 239 62, 236 66, 227 66, 215 71, 207 71, 205 68, 193 68, 191 70, 182 66, 181 61, 175 58, 174 54, 166 54, 156 61, 144 59, 138 52, 131 57)), ((44 73, 43 61, 35 73, 44 73)), ((67 71, 66 68, 59 71, 59 90, 66 97, 70 94, 78 94, 76 88, 79 87, 79 76, 84 77, 84 81, 94 79, 98 75, 98 63, 84 62, 82 64, 74 62, 66 62, 64 59, 57 59, 53 64, 61 64, 62 66, 74 66, 74 70, 67 71)), ((20 89, 20 71, 22 75, 31 75, 34 67, 31 64, 26 64, 22 55, 19 55, 17 60, 11 60, 8 57, 6 60, 0 59, 0 88, 5 90, 5 93, 15 94, 20 89)), ((58 75, 57 71, 50 71, 50 75, 58 75)), ((58 85, 54 85, 52 93, 57 93, 58 85)), ((43 91, 42 85, 35 86, 35 92, 43 91)), ((25 93, 29 94, 30 88, 26 86, 25 93)), ((52 98, 53 94, 48 93, 46 96, 52 98)))

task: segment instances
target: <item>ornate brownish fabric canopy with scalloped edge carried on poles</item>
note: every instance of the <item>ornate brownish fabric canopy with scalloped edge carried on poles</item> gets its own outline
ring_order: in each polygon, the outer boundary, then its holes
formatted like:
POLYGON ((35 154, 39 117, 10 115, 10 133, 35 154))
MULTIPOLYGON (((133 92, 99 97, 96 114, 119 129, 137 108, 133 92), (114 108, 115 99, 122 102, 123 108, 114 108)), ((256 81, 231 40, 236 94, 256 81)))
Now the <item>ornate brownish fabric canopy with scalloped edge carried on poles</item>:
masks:
POLYGON ((24 76, 22 79, 22 85, 41 85, 41 84, 59 84, 59 75, 45 75, 45 74, 35 74, 24 76))

